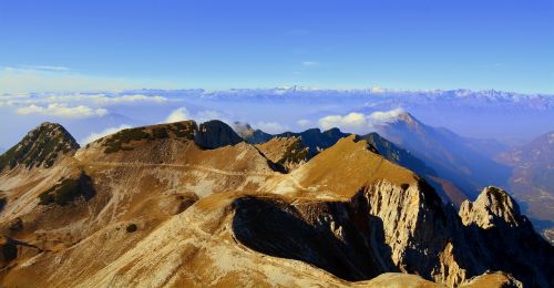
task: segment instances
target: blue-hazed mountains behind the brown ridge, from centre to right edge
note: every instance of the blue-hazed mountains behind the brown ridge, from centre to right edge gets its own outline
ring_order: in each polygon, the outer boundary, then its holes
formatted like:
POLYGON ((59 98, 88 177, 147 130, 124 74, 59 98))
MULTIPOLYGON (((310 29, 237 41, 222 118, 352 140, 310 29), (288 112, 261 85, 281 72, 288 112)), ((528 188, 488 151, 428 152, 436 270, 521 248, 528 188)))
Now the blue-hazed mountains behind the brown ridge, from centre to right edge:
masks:
MULTIPOLYGON (((276 135, 244 123, 235 123, 234 128, 249 143, 281 136, 300 137, 312 151, 310 155, 348 136, 337 128, 276 135)), ((379 134, 358 137, 366 138, 387 160, 423 176, 445 203, 460 207, 463 200, 475 199, 489 185, 509 188, 537 230, 554 241, 554 191, 550 185, 554 160, 552 133, 511 148, 495 140, 464 137, 443 127, 427 125, 408 112, 382 122, 376 130, 379 134)))

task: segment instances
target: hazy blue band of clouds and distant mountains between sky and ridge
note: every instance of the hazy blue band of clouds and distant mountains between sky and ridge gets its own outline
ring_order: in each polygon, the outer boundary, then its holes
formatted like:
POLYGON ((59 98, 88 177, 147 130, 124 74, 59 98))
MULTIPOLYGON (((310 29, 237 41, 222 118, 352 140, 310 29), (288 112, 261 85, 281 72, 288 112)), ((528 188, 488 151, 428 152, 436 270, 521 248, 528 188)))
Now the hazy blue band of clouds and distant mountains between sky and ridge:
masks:
POLYGON ((552 130, 554 96, 499 91, 318 90, 306 88, 136 90, 123 92, 53 92, 0 95, 0 146, 10 147, 35 123, 55 121, 85 144, 121 126, 166 122, 242 121, 278 134, 334 126, 368 134, 383 120, 379 112, 402 110, 431 126, 474 138, 524 144, 552 130), (356 121, 348 117, 356 113, 356 121), (376 114, 377 113, 377 114, 376 114), (286 116, 284 116, 286 115, 286 116), (12 121, 12 120, 17 121, 12 121), (329 120, 335 120, 329 123, 329 120))

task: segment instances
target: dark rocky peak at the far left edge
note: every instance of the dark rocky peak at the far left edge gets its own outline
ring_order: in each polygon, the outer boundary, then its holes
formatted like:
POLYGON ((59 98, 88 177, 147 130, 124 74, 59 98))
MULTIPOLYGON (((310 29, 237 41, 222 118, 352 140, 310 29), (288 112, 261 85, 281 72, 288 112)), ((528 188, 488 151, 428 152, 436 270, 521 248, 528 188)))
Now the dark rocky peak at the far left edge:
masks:
POLYGON ((0 156, 0 171, 18 165, 27 168, 51 167, 64 155, 72 155, 79 144, 60 124, 44 122, 0 156))

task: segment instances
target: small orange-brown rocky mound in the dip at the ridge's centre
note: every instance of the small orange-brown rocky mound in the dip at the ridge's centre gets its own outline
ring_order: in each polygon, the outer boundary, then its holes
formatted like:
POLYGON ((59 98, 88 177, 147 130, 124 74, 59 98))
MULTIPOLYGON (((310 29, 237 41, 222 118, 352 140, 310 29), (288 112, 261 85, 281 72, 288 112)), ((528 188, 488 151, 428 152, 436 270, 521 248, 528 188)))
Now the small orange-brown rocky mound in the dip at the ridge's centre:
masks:
POLYGON ((293 171, 308 161, 309 148, 299 137, 274 137, 256 147, 268 160, 283 165, 287 171, 293 171))

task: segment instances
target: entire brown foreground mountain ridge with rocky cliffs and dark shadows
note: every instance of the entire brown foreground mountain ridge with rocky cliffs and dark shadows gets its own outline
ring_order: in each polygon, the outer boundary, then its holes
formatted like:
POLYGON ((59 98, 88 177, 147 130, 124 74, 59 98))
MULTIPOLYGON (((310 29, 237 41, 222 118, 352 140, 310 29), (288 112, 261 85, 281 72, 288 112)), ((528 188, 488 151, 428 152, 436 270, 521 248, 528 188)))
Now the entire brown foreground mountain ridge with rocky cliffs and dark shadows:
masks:
POLYGON ((184 121, 79 147, 44 123, 0 161, 7 287, 554 285, 554 247, 506 191, 456 210, 440 171, 378 134, 250 144, 184 121))

